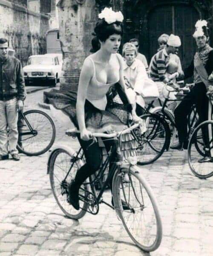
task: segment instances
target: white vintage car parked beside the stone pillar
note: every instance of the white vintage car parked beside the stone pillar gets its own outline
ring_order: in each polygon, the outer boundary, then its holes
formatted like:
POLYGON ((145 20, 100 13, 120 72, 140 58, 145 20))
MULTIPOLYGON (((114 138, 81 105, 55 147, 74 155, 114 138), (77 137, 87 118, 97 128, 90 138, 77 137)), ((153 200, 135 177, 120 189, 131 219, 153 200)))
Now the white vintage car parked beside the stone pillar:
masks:
POLYGON ((60 79, 62 69, 62 56, 57 53, 29 56, 27 65, 23 67, 25 84, 29 82, 55 86, 60 79))

